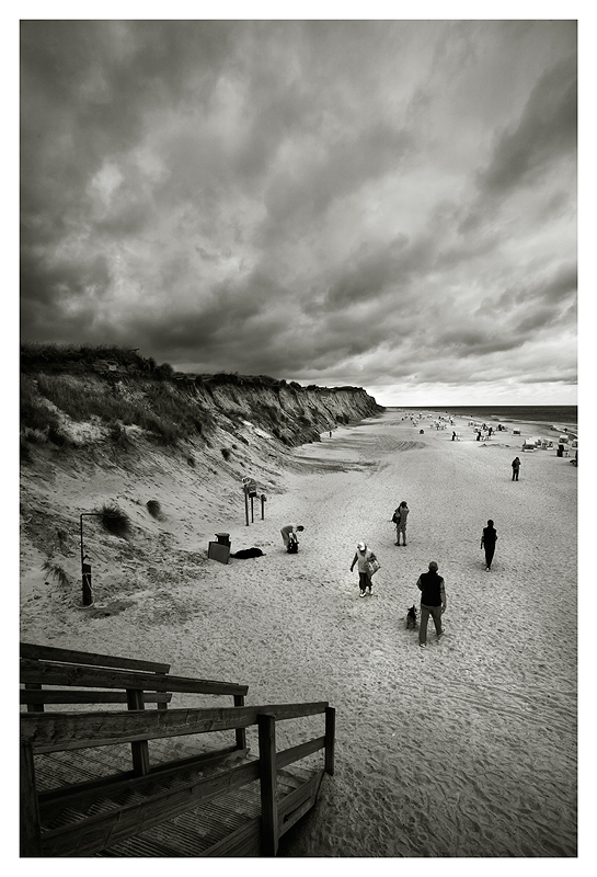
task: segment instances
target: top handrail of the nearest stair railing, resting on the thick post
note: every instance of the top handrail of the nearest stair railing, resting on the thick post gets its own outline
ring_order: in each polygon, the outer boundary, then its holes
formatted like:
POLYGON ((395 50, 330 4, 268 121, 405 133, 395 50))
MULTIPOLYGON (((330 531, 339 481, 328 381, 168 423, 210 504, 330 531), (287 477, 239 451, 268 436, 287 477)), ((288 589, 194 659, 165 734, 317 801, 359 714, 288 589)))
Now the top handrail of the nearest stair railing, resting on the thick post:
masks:
POLYGON ((256 724, 264 709, 283 720, 324 713, 326 706, 328 702, 319 702, 167 711, 26 713, 20 717, 21 741, 31 743, 34 752, 58 752, 246 728, 256 724))

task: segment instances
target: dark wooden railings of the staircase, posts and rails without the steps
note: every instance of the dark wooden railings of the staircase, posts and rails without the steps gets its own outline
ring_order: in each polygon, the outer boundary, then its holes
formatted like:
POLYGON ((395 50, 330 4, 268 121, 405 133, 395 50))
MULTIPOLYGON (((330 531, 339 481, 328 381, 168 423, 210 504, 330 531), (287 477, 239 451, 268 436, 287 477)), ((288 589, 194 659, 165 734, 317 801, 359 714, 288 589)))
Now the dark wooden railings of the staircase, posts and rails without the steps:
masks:
MULTIPOLYGON (((27 710, 33 708, 32 711, 21 715, 22 856, 91 855, 134 836, 141 830, 146 831, 181 812, 229 793, 232 788, 257 779, 261 788, 260 824, 253 829, 248 827, 243 831, 245 834, 253 830, 259 831, 261 854, 276 855, 282 834, 313 805, 323 772, 328 774, 334 772, 335 710, 326 702, 244 706, 240 701, 244 699, 246 686, 171 676, 168 673, 170 669, 168 664, 150 664, 133 659, 65 652, 33 646, 22 647, 21 653, 22 682, 26 686, 39 686, 35 691, 28 688, 22 692, 22 702, 27 705, 27 710), (76 658, 82 658, 85 663, 78 663, 76 658), (92 663, 92 659, 96 660, 92 663), (53 699, 68 697, 69 692, 44 690, 41 687, 44 684, 71 686, 71 699, 53 699), (95 685, 107 688, 108 695, 111 690, 124 688, 128 709, 89 713, 38 711, 39 707, 44 709, 44 706, 53 703, 93 703, 93 695, 101 694, 103 697, 106 693, 80 692, 74 686, 93 688, 95 685), (158 709, 145 710, 146 692, 226 694, 234 697, 236 706, 165 709, 165 702, 158 702, 158 709), (87 699, 80 699, 83 694, 87 695, 87 699), (276 751, 277 721, 319 714, 325 716, 323 736, 282 752, 276 751), (191 779, 184 778, 188 774, 190 766, 204 764, 205 754, 154 767, 149 764, 149 740, 186 734, 234 730, 237 747, 231 749, 242 749, 246 752, 245 732, 250 726, 257 726, 259 729, 259 761, 241 763, 221 771, 216 776, 194 776, 191 779), (35 755, 116 743, 131 745, 134 770, 130 774, 54 789, 49 793, 37 791, 35 755), (277 772, 319 750, 324 751, 323 770, 278 801, 277 772), (154 784, 157 775, 164 779, 181 782, 174 789, 152 793, 151 784, 154 784), (140 804, 118 806, 107 812, 80 819, 73 824, 42 832, 42 824, 47 823, 56 812, 92 802, 100 794, 105 794, 106 789, 115 794, 120 787, 141 794, 147 793, 147 798, 140 804)), ((122 693, 119 696, 122 697, 122 693)), ((103 699, 96 702, 105 703, 103 699)), ((110 703, 122 703, 122 701, 111 699, 110 703)), ((237 838, 237 843, 242 843, 241 835, 242 832, 239 834, 241 840, 237 838)))

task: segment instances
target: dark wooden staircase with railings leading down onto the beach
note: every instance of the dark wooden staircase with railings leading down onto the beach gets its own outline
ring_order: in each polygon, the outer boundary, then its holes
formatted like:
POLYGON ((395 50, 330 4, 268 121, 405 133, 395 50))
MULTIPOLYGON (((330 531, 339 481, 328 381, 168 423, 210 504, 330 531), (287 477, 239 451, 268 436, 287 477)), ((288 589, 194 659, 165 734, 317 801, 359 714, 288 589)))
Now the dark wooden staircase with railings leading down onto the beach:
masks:
POLYGON ((333 708, 245 706, 246 686, 169 670, 21 646, 21 856, 276 855, 279 838, 315 804, 324 773, 333 774, 333 708), (234 706, 172 709, 175 692, 231 695, 234 706), (123 703, 124 711, 92 709, 123 703), (158 708, 146 710, 149 703, 158 708), (277 722, 318 715, 322 736, 276 751, 277 722), (209 748, 230 730, 233 745, 209 748), (318 751, 323 764, 297 764, 318 751))

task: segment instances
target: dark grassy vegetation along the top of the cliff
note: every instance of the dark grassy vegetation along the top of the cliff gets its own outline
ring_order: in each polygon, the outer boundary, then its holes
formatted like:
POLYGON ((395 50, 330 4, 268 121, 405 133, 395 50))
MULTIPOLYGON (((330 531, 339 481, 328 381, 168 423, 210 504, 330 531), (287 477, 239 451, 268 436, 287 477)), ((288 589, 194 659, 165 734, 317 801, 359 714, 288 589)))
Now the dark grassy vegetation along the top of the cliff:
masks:
POLYGON ((319 431, 329 429, 334 421, 347 423, 380 410, 360 388, 340 390, 361 394, 370 410, 353 415, 348 411, 332 413, 324 407, 320 410, 307 403, 309 394, 336 390, 303 388, 296 381, 268 375, 190 375, 176 373, 168 363, 158 365, 135 350, 25 343, 21 348, 22 458, 31 458, 27 444, 71 443, 66 429, 71 423, 92 424, 103 440, 126 447, 130 426, 139 428, 160 444, 173 446, 181 441, 208 442, 216 418, 223 430, 234 434, 240 422, 249 420, 291 445, 319 440, 319 431), (214 394, 220 389, 225 390, 223 402, 221 394, 215 401, 214 394), (283 389, 297 399, 295 412, 286 411, 277 400, 273 405, 261 400, 249 411, 243 406, 248 391, 268 390, 277 396, 283 389))

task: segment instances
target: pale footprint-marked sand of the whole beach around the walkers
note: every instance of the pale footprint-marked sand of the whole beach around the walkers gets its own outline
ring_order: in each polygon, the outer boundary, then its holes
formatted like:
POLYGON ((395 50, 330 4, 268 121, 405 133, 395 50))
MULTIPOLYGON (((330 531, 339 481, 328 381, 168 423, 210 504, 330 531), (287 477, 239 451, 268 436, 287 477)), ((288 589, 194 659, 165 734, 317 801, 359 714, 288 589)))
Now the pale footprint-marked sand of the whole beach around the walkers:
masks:
MULTIPOLYGON (((268 496, 264 521, 255 506, 249 527, 242 497, 234 511, 198 504, 164 477, 153 485, 169 508, 156 524, 158 559, 139 569, 123 551, 126 576, 111 584, 124 611, 49 612, 41 558, 27 549, 21 638, 170 661, 180 675, 248 684, 248 704, 329 701, 335 774, 283 840, 284 856, 575 856, 577 470, 555 448, 521 453, 512 431, 480 443, 467 419, 455 429, 462 441, 428 413, 415 426, 388 411, 325 433, 288 452, 283 492, 268 496), (390 523, 401 500, 406 547, 390 523), (486 572, 490 517, 498 542, 486 572), (294 556, 279 535, 289 522, 306 527, 294 556), (232 550, 265 556, 206 560, 205 534, 220 531, 232 550), (359 539, 381 562, 363 600, 349 571, 359 539), (429 560, 446 580, 446 634, 436 641, 430 624, 421 649, 405 615, 429 560)), ((525 434, 556 437, 549 424, 525 434)), ((97 470, 87 490, 101 493, 105 477, 97 470)), ((62 504, 71 491, 77 506, 76 478, 51 490, 62 504)), ((101 574, 94 596, 107 605, 101 574)), ((280 743, 300 741, 283 726, 280 743)))

